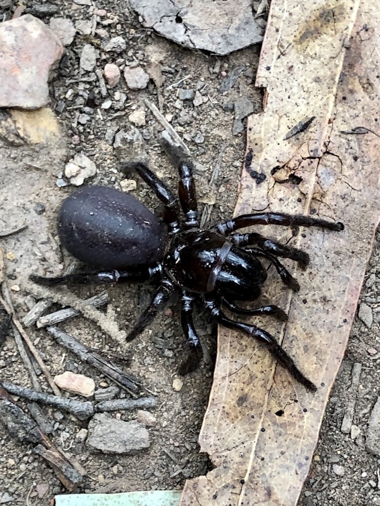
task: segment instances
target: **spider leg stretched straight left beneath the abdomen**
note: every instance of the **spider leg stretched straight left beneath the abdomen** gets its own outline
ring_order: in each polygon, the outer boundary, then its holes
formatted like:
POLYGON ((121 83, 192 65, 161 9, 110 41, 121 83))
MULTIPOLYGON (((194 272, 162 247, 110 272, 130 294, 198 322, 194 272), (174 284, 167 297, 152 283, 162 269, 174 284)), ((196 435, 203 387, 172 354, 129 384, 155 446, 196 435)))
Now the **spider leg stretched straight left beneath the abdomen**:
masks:
POLYGON ((46 278, 43 276, 29 276, 33 283, 55 286, 58 284, 104 284, 115 282, 150 281, 155 282, 162 277, 162 265, 136 267, 129 271, 101 271, 89 274, 67 274, 61 277, 46 278))

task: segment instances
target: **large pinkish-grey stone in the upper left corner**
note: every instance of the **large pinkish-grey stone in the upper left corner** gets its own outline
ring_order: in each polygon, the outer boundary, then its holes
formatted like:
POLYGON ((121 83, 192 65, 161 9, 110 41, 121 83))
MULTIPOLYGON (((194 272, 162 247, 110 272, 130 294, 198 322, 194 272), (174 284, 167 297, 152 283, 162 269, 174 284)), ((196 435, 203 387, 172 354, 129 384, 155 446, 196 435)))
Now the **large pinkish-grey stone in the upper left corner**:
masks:
POLYGON ((25 14, 0 23, 0 108, 39 109, 49 103, 48 78, 63 44, 45 23, 25 14))

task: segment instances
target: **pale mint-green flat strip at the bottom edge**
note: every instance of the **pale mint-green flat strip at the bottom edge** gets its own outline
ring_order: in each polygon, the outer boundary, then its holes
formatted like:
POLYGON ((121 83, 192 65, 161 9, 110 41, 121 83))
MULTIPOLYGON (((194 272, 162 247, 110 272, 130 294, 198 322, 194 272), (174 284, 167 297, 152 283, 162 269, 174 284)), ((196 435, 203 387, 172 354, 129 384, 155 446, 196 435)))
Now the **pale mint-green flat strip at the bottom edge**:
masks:
POLYGON ((146 490, 120 494, 56 495, 56 506, 178 506, 178 490, 146 490))

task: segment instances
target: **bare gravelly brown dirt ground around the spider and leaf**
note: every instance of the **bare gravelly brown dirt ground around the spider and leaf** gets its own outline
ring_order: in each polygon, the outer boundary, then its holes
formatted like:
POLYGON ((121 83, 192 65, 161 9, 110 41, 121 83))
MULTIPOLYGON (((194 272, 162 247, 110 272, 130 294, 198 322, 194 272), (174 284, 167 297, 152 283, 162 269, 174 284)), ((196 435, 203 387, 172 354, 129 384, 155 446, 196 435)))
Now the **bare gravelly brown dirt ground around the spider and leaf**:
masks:
MULTIPOLYGON (((26 2, 27 8, 33 6, 32 2, 26 2)), ((65 2, 55 2, 54 6, 57 8, 54 17, 69 17, 73 22, 91 19, 88 6, 65 2)), ((184 138, 192 157, 201 164, 195 174, 201 212, 205 203, 215 201, 206 226, 228 219, 232 216, 237 198, 245 149, 244 133, 232 134, 234 112, 230 104, 246 97, 253 103, 254 110, 261 107, 262 93, 253 87, 259 47, 226 57, 205 55, 182 49, 150 30, 142 29, 123 3, 115 5, 104 1, 97 8, 105 9, 107 17, 104 19, 111 20, 109 24, 103 23, 103 26, 99 23, 99 27, 107 29, 110 36, 121 35, 127 41, 127 48, 122 54, 101 53, 97 68, 103 69, 106 63, 114 63, 118 58, 124 58, 127 62, 135 61, 145 69, 153 61, 160 63, 165 78, 162 112, 164 115, 173 115, 171 124, 184 138), (220 86, 225 77, 242 65, 245 69, 238 75, 234 85, 221 92, 220 86), (179 82, 181 79, 184 80, 179 82), (179 88, 199 90, 203 103, 195 107, 188 100, 178 102, 179 88), (218 177, 210 184, 212 172, 219 161, 218 177)), ((49 18, 46 16, 43 19, 48 22, 49 18)), ((0 172, 0 226, 4 231, 9 231, 23 224, 29 225, 28 230, 1 240, 6 254, 6 284, 10 288, 19 319, 26 314, 32 302, 30 296, 36 294, 35 286, 28 282, 29 274, 57 275, 72 262, 67 255, 62 258, 57 244, 55 216, 60 202, 73 190, 69 185, 59 188, 56 181, 63 172, 64 164, 75 153, 83 152, 96 163, 97 174, 92 178, 92 184, 120 188, 125 176, 120 172, 120 162, 112 146, 106 141, 106 133, 109 129, 113 132, 123 129, 129 124, 128 116, 133 109, 143 108, 146 124, 139 129, 144 136, 150 167, 172 188, 176 186, 176 171, 168 163, 157 140, 162 127, 144 103, 144 99, 148 99, 157 105, 157 88, 153 81, 149 82, 146 89, 132 91, 127 89, 122 77, 118 85, 109 90, 107 98, 112 100, 115 92, 126 93, 128 98, 125 106, 120 111, 113 106, 100 109, 101 117, 98 114, 97 109, 104 102, 98 81, 84 79, 91 73, 79 70, 84 45, 96 44, 96 40, 97 36, 89 41, 88 37, 77 34, 73 43, 66 48, 67 56, 51 82, 51 105, 59 115, 62 129, 60 142, 47 147, 35 145, 15 148, 0 144, 0 163, 6 169, 0 172), (90 92, 95 95, 91 96, 92 102, 89 101, 90 92), (65 106, 61 112, 60 108, 57 109, 59 102, 65 106), (84 124, 78 122, 81 113, 89 116, 84 124), (39 209, 36 204, 39 202, 45 206, 43 214, 36 213, 36 209, 39 209), (20 289, 17 290, 17 287, 20 289)), ((160 204, 151 198, 144 183, 137 177, 133 178, 137 187, 132 193, 156 213, 162 213, 160 204)), ((380 503, 378 461, 364 448, 368 417, 377 398, 379 384, 379 373, 376 372, 380 321, 376 312, 380 301, 376 294, 379 248, 376 240, 366 279, 370 274, 373 276, 362 294, 362 301, 373 311, 373 323, 367 328, 357 319, 353 327, 349 349, 330 398, 311 474, 299 500, 302 506, 380 503), (353 419, 360 434, 353 440, 350 434, 341 433, 340 426, 352 397, 349 389, 351 369, 355 362, 362 364, 362 371, 353 419)), ((102 289, 70 288, 82 298, 102 289)), ((146 285, 115 286, 109 288, 108 292, 120 328, 131 328, 148 304, 152 288, 146 285)), ((197 439, 212 381, 215 326, 203 309, 198 308, 197 328, 208 354, 198 371, 182 378, 182 389, 174 391, 172 382, 178 377, 177 367, 186 354, 177 302, 174 298, 154 324, 126 347, 112 341, 109 335, 88 319, 76 318, 60 325, 66 332, 109 358, 130 358, 126 370, 141 378, 144 386, 158 395, 157 408, 153 411, 158 424, 149 429, 150 448, 135 456, 91 452, 85 443, 75 439, 83 424, 64 412, 45 408, 54 425, 54 443, 68 449, 88 473, 83 492, 181 489, 186 478, 204 474, 209 469, 207 456, 199 454, 197 439)), ((46 331, 33 328, 28 333, 52 375, 72 370, 93 377, 96 388, 109 384, 94 369, 77 362, 73 355, 56 345, 46 331)), ((0 378, 29 385, 25 376, 26 371, 10 335, 0 352, 0 378)), ((135 413, 121 412, 118 416, 128 420, 135 418, 135 413)), ((64 493, 51 469, 32 453, 31 445, 14 444, 11 437, 3 433, 0 446, 0 491, 7 491, 13 497, 11 504, 24 504, 29 491, 30 504, 34 505, 46 504, 53 495, 64 493), (41 498, 35 492, 35 485, 39 484, 47 485, 47 492, 41 498)))

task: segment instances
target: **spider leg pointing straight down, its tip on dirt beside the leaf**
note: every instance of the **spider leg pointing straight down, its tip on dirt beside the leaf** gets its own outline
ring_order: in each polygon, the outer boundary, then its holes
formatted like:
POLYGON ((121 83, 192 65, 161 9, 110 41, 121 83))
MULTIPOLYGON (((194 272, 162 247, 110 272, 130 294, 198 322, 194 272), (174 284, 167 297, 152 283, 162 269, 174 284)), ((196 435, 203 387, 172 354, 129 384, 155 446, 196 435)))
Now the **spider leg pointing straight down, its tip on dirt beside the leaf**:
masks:
POLYGON ((193 303, 195 297, 186 291, 182 291, 181 324, 186 341, 190 348, 187 359, 180 365, 179 374, 187 374, 195 371, 203 356, 202 345, 193 323, 193 303))

